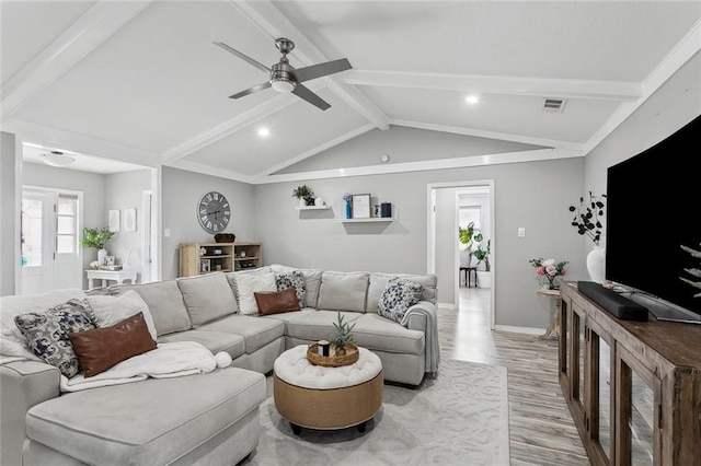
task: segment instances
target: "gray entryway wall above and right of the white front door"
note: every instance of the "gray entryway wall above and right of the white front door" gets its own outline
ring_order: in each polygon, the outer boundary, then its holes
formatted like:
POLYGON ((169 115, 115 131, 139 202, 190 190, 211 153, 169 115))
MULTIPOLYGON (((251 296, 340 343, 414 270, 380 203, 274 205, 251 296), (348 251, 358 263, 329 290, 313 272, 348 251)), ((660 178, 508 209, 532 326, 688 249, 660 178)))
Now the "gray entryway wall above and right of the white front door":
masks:
MULTIPOLYGON (((82 191, 83 225, 91 229, 107 226, 105 175, 24 163, 22 164, 22 184, 82 191)), ((96 259, 95 249, 83 249, 83 269, 89 268, 90 263, 96 259)), ((84 277, 83 287, 88 287, 88 280, 84 277)))

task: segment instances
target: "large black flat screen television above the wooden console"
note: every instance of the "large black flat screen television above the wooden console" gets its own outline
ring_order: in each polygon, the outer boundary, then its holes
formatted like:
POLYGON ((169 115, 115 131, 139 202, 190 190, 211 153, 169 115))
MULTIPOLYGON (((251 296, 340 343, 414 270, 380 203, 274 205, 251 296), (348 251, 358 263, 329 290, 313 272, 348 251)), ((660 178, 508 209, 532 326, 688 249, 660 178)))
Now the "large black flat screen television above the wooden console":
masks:
POLYGON ((608 168, 606 278, 658 319, 701 324, 700 147, 698 116, 608 168))

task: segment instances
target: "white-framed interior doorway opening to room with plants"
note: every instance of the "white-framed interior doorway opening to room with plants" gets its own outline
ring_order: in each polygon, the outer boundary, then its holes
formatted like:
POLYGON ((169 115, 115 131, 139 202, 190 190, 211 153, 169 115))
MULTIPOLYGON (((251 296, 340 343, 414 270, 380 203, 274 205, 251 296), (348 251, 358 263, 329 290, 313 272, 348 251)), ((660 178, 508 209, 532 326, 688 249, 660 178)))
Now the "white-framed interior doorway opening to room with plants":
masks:
MULTIPOLYGON (((490 244, 491 271, 489 279, 491 283, 485 288, 486 279, 483 276, 483 287, 475 289, 483 299, 489 299, 489 323, 494 329, 495 322, 495 289, 496 283, 492 278, 495 276, 495 253, 494 242, 494 180, 455 182, 428 185, 428 264, 429 273, 438 277, 440 288, 438 305, 456 311, 460 310, 461 292, 467 290, 461 287, 460 276, 460 242, 458 241, 458 225, 460 224, 460 206, 479 207, 480 225, 479 233, 482 233, 482 245, 486 248, 490 244), (462 199, 462 200, 461 200, 462 199), (464 202, 463 202, 464 200, 464 202), (441 299, 441 296, 444 296, 441 299)), ((474 210, 472 210, 474 213, 474 210)), ((473 259, 472 265, 475 265, 473 259)), ((484 263, 480 265, 480 271, 484 272, 484 263)), ((464 272, 463 272, 464 273, 464 272)), ((474 279, 474 278, 473 278, 474 279)), ((462 276, 464 283, 464 275, 462 276)), ((479 279, 478 279, 479 282, 479 279)), ((464 296, 463 296, 464 298, 464 296)), ((464 301, 464 300, 462 300, 464 301)))

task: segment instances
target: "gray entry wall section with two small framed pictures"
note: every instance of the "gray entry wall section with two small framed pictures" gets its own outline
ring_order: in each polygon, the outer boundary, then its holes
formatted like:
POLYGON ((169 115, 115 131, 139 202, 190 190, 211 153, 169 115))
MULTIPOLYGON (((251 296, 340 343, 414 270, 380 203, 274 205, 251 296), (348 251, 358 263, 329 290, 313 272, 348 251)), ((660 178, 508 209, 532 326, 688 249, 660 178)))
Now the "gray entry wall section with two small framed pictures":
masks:
POLYGON ((107 243, 107 252, 115 256, 116 263, 124 265, 127 257, 129 267, 141 277, 141 241, 143 225, 141 209, 143 208, 143 190, 151 189, 151 171, 148 168, 133 172, 115 173, 105 176, 105 212, 111 209, 119 210, 120 231, 107 243), (136 232, 124 231, 124 209, 136 208, 136 232))

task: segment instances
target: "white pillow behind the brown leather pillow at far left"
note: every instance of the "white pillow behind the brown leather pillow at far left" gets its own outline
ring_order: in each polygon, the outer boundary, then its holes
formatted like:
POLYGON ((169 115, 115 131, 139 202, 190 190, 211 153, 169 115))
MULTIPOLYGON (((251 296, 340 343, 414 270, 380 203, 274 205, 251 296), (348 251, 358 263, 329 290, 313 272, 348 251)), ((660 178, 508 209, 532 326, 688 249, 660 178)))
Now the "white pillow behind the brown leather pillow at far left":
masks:
POLYGON ((158 336, 151 311, 136 291, 129 290, 119 296, 89 294, 85 300, 90 304, 92 317, 97 327, 110 327, 127 317, 141 313, 151 338, 156 339, 158 336))

